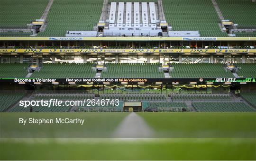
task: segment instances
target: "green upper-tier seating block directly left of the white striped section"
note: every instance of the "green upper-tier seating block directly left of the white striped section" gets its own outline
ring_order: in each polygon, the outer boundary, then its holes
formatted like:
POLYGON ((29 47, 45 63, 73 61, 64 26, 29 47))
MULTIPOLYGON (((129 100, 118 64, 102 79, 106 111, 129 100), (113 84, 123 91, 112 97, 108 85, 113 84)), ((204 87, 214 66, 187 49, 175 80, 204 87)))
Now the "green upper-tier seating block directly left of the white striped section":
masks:
POLYGON ((103 0, 54 0, 47 26, 38 36, 65 36, 67 31, 93 30, 99 22, 103 0))

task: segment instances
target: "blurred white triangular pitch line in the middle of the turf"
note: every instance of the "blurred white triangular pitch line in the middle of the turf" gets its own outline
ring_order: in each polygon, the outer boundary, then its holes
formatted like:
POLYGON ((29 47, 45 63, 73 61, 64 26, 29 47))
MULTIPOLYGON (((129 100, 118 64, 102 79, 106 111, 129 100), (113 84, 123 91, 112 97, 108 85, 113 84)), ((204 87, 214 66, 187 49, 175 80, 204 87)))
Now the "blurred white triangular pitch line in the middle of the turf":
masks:
POLYGON ((153 137, 153 130, 146 124, 145 120, 138 116, 135 112, 130 113, 119 124, 113 137, 118 138, 139 138, 153 137))

